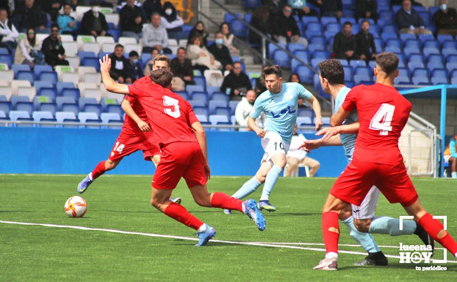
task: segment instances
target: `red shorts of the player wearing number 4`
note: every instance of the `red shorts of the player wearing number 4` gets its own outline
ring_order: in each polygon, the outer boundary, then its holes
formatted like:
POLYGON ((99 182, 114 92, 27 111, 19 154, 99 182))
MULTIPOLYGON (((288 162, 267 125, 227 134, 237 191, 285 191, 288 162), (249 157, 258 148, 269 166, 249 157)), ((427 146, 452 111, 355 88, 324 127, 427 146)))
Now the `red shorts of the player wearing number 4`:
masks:
POLYGON ((360 206, 371 187, 375 185, 390 203, 412 205, 417 192, 403 163, 399 165, 352 161, 336 180, 330 194, 360 206))

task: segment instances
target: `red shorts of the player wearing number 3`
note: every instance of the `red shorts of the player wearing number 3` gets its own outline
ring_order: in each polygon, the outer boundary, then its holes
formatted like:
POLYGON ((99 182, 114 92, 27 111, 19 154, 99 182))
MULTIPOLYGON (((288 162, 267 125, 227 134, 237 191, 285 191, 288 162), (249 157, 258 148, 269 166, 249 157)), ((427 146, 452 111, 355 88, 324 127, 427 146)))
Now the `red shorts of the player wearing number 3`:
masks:
POLYGON ((206 183, 204 158, 196 142, 174 142, 162 148, 160 163, 153 177, 153 188, 175 189, 181 177, 187 187, 206 183))

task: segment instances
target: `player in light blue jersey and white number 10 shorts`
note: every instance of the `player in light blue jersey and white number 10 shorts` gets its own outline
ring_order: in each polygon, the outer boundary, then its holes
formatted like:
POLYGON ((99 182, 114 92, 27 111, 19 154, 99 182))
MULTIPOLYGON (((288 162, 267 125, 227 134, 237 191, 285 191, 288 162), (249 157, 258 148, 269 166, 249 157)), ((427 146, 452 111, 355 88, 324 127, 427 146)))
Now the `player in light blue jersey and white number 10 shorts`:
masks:
MULTIPOLYGON (((308 99, 313 105, 316 116, 316 131, 322 126, 319 101, 298 83, 283 83, 282 71, 278 66, 265 67, 262 70, 266 90, 256 99, 254 107, 247 118, 247 126, 262 138, 263 154, 260 168, 256 175, 247 180, 232 196, 242 199, 263 186, 259 209, 269 212, 276 207, 270 204, 270 193, 287 164, 285 155, 289 150, 298 113, 298 98, 308 99), (263 129, 256 125, 256 119, 264 112, 266 122, 263 129)), ((230 210, 224 210, 230 214, 230 210)))

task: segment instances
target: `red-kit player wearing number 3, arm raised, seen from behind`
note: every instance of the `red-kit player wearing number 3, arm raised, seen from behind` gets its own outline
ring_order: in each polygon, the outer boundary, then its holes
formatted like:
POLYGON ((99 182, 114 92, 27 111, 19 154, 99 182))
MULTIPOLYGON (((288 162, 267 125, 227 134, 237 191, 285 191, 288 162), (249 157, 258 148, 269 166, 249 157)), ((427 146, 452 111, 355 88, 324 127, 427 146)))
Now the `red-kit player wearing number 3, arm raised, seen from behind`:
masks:
POLYGON ((103 61, 100 60, 100 71, 106 89, 138 98, 162 150, 161 160, 153 178, 151 205, 197 230, 199 241, 196 246, 206 245, 216 234, 214 228, 204 224, 183 206, 169 200, 173 189, 183 177, 198 205, 238 210, 253 219, 260 231, 264 230, 265 219, 255 200, 243 202, 221 192, 208 193, 206 181, 210 178, 210 167, 205 131, 191 105, 169 90, 173 74, 164 69, 155 70, 151 72, 150 77, 140 78, 127 87, 116 83, 109 76, 110 65, 111 59, 108 56, 103 57, 103 61))

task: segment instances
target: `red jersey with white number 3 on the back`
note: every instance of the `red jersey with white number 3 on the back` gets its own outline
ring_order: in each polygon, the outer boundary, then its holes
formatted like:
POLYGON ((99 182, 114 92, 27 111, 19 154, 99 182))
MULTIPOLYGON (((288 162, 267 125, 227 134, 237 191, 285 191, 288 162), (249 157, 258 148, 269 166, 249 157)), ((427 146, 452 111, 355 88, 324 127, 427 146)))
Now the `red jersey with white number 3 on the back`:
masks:
POLYGON ((159 147, 173 142, 198 142, 191 125, 198 122, 191 104, 180 95, 151 82, 148 76, 128 86, 146 111, 159 147))

